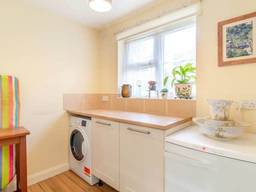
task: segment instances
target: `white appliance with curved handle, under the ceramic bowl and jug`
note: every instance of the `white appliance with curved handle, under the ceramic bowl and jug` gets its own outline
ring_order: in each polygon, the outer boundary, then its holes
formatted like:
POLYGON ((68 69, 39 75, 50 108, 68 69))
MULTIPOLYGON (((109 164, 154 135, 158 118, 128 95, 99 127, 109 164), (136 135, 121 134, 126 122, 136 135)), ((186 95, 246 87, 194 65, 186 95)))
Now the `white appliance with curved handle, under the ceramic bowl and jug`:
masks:
POLYGON ((256 191, 256 134, 216 140, 189 126, 166 137, 165 192, 256 191))

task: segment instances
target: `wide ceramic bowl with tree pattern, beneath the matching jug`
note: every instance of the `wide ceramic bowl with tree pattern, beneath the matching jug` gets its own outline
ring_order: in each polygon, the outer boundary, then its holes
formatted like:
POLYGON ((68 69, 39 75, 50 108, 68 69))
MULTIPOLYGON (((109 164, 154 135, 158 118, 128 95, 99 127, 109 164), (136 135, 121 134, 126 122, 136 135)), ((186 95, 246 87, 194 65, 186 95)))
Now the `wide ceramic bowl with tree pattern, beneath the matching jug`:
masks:
POLYGON ((239 126, 214 126, 205 124, 204 118, 194 118, 193 121, 201 132, 208 137, 222 140, 230 140, 236 138, 244 133, 246 127, 250 124, 246 122, 238 122, 239 126))

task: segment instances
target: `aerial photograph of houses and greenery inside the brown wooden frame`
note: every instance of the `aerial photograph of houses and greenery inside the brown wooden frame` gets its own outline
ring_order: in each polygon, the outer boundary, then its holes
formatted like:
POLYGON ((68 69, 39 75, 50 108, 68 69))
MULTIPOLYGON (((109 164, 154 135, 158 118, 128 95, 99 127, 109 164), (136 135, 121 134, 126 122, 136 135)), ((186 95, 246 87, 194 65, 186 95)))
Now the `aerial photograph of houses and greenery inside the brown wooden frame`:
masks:
POLYGON ((253 21, 226 27, 226 58, 253 55, 253 21))

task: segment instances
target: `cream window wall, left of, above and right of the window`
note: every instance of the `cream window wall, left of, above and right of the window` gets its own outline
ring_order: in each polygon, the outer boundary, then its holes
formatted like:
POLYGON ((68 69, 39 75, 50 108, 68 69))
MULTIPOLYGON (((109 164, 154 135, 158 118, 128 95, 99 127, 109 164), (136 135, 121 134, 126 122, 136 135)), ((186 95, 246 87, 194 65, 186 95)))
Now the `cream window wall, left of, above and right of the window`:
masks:
MULTIPOLYGON (((177 5, 185 0, 166 0, 149 10, 108 26, 100 38, 100 90, 117 92, 117 44, 113 32, 127 24, 177 5)), ((217 23, 232 17, 254 12, 255 0, 202 0, 202 14, 197 19, 197 116, 209 115, 206 98, 256 99, 253 76, 256 64, 217 66, 217 23)), ((243 110, 244 120, 252 124, 247 132, 256 133, 256 110, 243 110), (254 127, 254 128, 253 128, 254 127)))

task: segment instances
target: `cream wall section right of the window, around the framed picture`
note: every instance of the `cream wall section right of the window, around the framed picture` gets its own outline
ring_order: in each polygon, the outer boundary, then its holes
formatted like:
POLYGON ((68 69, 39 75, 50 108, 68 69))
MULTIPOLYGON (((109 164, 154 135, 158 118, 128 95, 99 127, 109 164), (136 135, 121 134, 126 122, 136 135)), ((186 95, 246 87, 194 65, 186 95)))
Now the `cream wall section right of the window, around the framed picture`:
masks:
MULTIPOLYGON (((197 116, 208 115, 205 98, 256 99, 256 64, 218 67, 217 23, 255 11, 255 0, 203 0, 197 19, 197 116)), ((252 124, 247 132, 256 133, 256 110, 242 110, 244 121, 252 124)))

